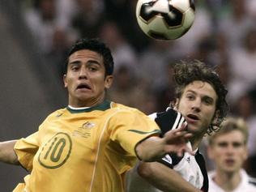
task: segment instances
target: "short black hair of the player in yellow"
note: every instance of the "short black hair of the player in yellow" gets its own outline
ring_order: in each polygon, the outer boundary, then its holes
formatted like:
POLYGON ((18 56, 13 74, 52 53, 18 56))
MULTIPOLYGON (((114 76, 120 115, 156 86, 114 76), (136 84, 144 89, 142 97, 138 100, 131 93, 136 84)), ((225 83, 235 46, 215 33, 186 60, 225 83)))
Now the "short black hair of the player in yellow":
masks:
POLYGON ((104 42, 100 41, 97 38, 92 38, 92 39, 82 38, 79 41, 75 42, 75 44, 71 47, 68 53, 68 56, 66 58, 66 62, 63 69, 64 74, 66 74, 66 71, 67 71, 67 65, 68 65, 70 55, 82 49, 92 50, 102 55, 104 65, 105 65, 105 70, 106 70, 105 75, 113 75, 113 56, 112 56, 111 50, 107 45, 105 45, 104 42))

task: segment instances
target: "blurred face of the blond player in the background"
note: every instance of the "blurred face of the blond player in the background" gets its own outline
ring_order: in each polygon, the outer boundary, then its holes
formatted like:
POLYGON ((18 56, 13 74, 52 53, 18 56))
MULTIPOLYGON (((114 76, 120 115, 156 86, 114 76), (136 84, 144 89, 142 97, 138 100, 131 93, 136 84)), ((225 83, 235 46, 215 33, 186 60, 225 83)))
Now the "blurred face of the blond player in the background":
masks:
POLYGON ((209 157, 214 160, 216 169, 224 173, 236 173, 247 158, 245 138, 239 130, 220 134, 208 148, 209 157))

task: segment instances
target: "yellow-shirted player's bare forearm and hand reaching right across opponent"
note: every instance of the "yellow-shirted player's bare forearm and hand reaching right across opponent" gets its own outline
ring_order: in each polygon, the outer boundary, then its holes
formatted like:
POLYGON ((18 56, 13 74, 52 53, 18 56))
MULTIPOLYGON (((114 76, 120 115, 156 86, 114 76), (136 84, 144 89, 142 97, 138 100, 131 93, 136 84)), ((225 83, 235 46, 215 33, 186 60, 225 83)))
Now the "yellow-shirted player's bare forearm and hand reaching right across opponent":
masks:
POLYGON ((186 124, 183 124, 178 129, 166 132, 163 138, 150 137, 143 140, 135 150, 139 159, 143 161, 156 161, 167 153, 177 153, 177 156, 182 156, 185 151, 192 153, 186 146, 187 139, 191 136, 192 134, 186 131, 186 124))

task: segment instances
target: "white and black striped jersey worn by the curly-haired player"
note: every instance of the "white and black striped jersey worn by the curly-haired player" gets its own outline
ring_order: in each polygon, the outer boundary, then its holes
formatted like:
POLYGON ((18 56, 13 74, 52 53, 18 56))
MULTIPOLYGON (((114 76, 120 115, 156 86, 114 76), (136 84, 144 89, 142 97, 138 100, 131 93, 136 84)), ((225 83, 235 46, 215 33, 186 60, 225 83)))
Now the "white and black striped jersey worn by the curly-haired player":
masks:
MULTIPOLYGON (((152 113, 149 117, 154 119, 158 126, 160 126, 162 135, 169 130, 177 129, 182 123, 186 123, 186 119, 182 117, 181 113, 171 108, 166 109, 165 112, 152 113)), ((190 142, 187 145, 192 148, 190 142)), ((208 177, 205 161, 198 149, 194 152, 195 156, 187 152, 182 157, 178 157, 176 154, 167 154, 159 162, 180 173, 181 177, 189 181, 196 188, 207 192, 208 177)))

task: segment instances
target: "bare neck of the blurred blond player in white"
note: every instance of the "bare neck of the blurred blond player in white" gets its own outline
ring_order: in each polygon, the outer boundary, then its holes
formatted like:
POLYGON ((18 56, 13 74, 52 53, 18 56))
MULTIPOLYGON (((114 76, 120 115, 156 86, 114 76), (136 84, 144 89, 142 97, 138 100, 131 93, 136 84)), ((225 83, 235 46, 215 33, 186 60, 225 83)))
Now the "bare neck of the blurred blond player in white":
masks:
POLYGON ((225 191, 233 191, 241 182, 241 175, 239 172, 226 173, 224 171, 216 170, 213 181, 225 191))

